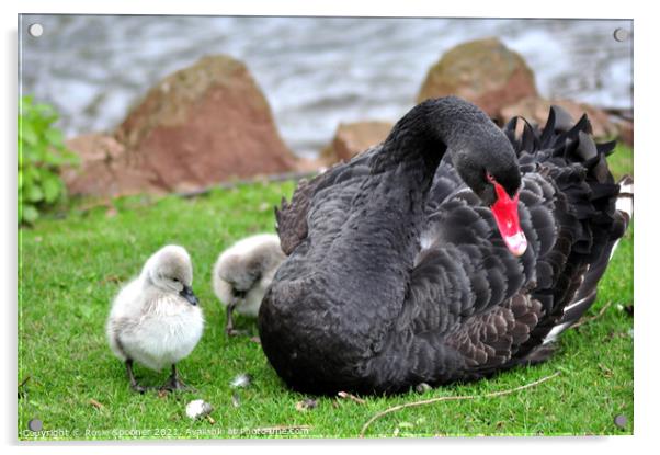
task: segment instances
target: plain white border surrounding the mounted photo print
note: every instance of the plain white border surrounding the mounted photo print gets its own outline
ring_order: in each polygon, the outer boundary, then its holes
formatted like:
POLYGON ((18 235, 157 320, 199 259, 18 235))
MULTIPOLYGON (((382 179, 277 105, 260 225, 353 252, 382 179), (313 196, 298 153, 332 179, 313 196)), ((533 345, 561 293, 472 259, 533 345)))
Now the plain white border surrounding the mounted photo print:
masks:
MULTIPOLYGON (((15 135, 16 135, 16 14, 23 13, 123 13, 123 14, 246 14, 246 15, 380 15, 380 16, 496 16, 496 18, 625 18, 635 20, 635 117, 636 117, 636 241, 635 241, 635 303, 637 306, 635 323, 635 436, 618 437, 550 437, 550 439, 462 439, 462 440, 416 440, 416 441, 369 441, 372 448, 379 452, 385 448, 400 452, 403 444, 413 444, 421 451, 465 451, 477 450, 491 454, 512 453, 555 453, 566 450, 592 450, 637 452, 648 443, 658 440, 658 394, 655 390, 658 382, 658 355, 660 346, 657 326, 660 323, 656 302, 656 287, 653 285, 656 258, 658 258, 657 241, 655 241, 657 223, 653 214, 658 205, 659 190, 652 183, 659 180, 657 155, 657 135, 660 133, 658 123, 657 93, 660 77, 658 75, 656 43, 660 42, 657 13, 650 7, 640 7, 630 1, 600 1, 578 2, 574 0, 556 0, 553 2, 514 2, 508 0, 479 1, 479 2, 431 2, 423 0, 374 0, 374 1, 293 1, 293 0, 257 0, 257 1, 225 1, 209 2, 208 0, 160 0, 147 4, 135 0, 110 1, 22 1, 21 4, 7 4, 2 2, 0 20, 3 25, 2 46, 3 59, 0 71, 4 95, 4 109, 0 110, 0 128, 4 149, 2 156, 3 183, 2 192, 2 236, 0 237, 0 251, 2 251, 2 273, 0 273, 0 288, 8 296, 3 302, 5 368, 2 374, 1 413, 2 441, 10 445, 10 451, 35 453, 48 451, 49 453, 112 453, 121 445, 124 447, 143 444, 114 444, 114 447, 101 447, 90 444, 73 445, 27 445, 16 447, 16 405, 15 405, 15 135), (652 135, 656 135, 653 137, 652 135), (656 140, 653 140, 656 139, 656 140), (12 302, 13 299, 13 302, 12 302)), ((651 4, 650 2, 646 2, 651 4)), ((539 49, 540 52, 542 49, 539 49)), ((656 278, 656 281, 658 281, 656 278)), ((560 406, 560 402, 557 403, 560 406)), ((215 441, 215 442, 170 442, 158 444, 156 448, 161 454, 180 455, 182 446, 192 445, 195 451, 217 452, 218 448, 231 451, 259 450, 269 453, 335 453, 348 448, 364 450, 362 441, 215 441)), ((145 447, 146 448, 146 447, 145 447)), ((572 452, 572 451, 571 451, 572 452)), ((644 451, 646 452, 646 451, 644 451)), ((642 452, 642 453, 644 453, 642 452)))

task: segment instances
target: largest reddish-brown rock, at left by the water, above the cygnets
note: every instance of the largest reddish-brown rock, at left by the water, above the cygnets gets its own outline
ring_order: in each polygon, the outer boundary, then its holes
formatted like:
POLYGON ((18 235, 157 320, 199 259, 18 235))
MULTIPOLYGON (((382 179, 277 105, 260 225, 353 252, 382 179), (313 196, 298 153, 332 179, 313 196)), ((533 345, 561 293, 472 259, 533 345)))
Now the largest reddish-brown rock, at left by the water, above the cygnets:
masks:
POLYGON ((71 193, 195 191, 234 178, 282 173, 296 159, 277 133, 268 101, 246 66, 204 57, 177 71, 132 110, 110 137, 75 139, 83 150, 71 193))

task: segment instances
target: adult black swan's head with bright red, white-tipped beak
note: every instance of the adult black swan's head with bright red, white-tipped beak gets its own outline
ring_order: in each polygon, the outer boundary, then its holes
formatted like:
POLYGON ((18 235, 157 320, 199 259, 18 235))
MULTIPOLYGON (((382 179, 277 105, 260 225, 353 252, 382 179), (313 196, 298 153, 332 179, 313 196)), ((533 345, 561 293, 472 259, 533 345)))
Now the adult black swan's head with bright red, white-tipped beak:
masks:
POLYGON ((489 206, 507 248, 523 255, 527 239, 520 226, 517 200, 521 174, 509 139, 498 128, 475 140, 469 149, 452 155, 460 178, 489 206))

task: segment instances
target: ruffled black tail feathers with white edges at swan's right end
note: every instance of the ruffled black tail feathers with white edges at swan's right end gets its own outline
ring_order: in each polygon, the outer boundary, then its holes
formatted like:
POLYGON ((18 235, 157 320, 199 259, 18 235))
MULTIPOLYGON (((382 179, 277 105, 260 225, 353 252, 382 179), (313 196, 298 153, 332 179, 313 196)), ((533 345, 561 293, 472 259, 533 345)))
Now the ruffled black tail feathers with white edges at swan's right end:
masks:
POLYGON ((516 135, 519 118, 504 133, 517 152, 521 171, 546 175, 561 193, 570 207, 561 216, 571 238, 558 285, 536 296, 548 302, 547 314, 521 349, 520 360, 525 363, 547 357, 551 342, 595 302, 599 281, 633 216, 633 179, 614 181, 606 158, 615 143, 596 144, 587 115, 574 122, 564 109, 553 106, 543 128, 523 122, 521 135, 516 135))

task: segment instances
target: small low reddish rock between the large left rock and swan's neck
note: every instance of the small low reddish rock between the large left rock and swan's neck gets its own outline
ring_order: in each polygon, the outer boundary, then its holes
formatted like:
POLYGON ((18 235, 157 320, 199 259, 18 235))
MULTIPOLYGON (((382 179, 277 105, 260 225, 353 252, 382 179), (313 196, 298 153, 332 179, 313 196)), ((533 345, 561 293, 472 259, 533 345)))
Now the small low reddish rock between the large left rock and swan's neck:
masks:
POLYGON ((389 122, 374 121, 342 123, 332 143, 321 151, 321 160, 326 164, 350 161, 355 155, 384 141, 392 126, 389 122))

